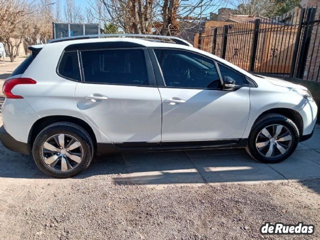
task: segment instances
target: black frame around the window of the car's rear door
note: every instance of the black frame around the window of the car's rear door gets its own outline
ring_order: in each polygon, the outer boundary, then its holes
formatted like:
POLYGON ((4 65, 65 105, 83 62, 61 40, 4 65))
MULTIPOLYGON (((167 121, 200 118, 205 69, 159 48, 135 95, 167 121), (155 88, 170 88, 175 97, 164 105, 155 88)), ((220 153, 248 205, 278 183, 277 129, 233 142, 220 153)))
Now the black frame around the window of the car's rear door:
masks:
POLYGON ((150 59, 149 52, 146 47, 117 47, 117 48, 93 48, 93 49, 84 49, 78 50, 79 60, 80 60, 80 73, 82 74, 82 83, 86 84, 102 84, 102 85, 120 85, 120 86, 142 86, 142 87, 157 87, 155 77, 152 70, 152 63, 150 59), (82 51, 101 51, 101 50, 131 50, 131 49, 141 49, 144 55, 145 68, 147 73, 148 85, 142 84, 124 84, 124 83, 112 83, 112 82, 93 82, 93 81, 85 81, 84 70, 82 65, 82 51))

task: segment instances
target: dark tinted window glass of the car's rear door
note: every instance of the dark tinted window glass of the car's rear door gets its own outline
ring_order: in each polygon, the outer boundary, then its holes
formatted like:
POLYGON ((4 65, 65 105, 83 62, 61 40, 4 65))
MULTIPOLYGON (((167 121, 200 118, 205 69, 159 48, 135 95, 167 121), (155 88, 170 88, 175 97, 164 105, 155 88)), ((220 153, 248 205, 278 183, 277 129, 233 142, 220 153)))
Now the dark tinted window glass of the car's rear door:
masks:
POLYGON ((148 85, 142 49, 81 51, 86 82, 148 85))

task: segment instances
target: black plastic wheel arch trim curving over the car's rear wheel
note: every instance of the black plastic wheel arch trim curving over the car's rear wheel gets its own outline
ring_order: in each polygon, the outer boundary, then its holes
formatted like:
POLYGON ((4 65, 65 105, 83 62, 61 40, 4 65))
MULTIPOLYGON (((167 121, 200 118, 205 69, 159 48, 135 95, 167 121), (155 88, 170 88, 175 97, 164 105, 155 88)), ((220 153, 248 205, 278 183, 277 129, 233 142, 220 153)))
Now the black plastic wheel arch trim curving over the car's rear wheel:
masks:
POLYGON ((33 123, 33 125, 31 126, 30 131, 29 131, 29 135, 28 135, 29 146, 32 146, 35 137, 44 127, 46 127, 52 123, 60 122, 60 121, 72 122, 72 123, 75 123, 75 124, 83 127, 88 132, 88 134, 90 135, 90 137, 93 141, 94 151, 96 150, 97 140, 96 140, 95 134, 94 134, 92 128, 90 127, 90 125, 80 118, 77 118, 74 116, 65 116, 65 115, 50 115, 50 116, 44 116, 42 118, 37 119, 33 123))

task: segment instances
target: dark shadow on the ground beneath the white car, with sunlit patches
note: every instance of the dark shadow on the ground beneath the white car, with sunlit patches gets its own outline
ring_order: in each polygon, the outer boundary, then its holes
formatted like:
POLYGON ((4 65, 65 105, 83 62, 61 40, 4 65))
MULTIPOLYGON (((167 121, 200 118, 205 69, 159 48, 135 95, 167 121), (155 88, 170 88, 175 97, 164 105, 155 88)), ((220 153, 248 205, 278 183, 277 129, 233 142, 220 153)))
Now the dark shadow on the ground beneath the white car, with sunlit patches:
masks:
MULTIPOLYGON (((301 180, 301 183, 320 192, 310 179, 320 178, 320 152, 297 150, 287 160, 264 164, 253 160, 244 149, 143 152, 96 156, 90 166, 74 179, 105 175, 116 184, 239 183, 301 180), (302 169, 303 168, 303 169, 302 169)), ((0 144, 0 177, 51 178, 42 173, 29 156, 7 150, 0 144)), ((54 180, 54 178, 52 178, 54 180)))

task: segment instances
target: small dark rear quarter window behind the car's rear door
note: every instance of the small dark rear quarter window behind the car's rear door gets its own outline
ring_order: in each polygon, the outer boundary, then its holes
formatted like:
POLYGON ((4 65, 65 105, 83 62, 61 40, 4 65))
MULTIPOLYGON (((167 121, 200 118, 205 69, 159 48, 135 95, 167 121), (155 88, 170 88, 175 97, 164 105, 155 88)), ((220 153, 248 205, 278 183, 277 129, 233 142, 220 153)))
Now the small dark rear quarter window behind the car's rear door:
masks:
POLYGON ((66 51, 63 53, 58 67, 58 72, 63 77, 73 80, 81 80, 78 54, 76 51, 66 51))

